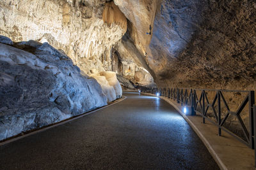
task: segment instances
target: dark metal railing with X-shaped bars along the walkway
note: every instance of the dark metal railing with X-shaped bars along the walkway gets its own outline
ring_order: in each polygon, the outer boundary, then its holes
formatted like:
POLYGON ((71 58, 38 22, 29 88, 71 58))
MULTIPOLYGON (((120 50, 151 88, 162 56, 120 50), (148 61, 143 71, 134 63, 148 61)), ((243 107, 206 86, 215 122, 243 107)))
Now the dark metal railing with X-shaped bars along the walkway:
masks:
MULTIPOLYGON (((147 88, 138 87, 141 92, 159 93, 159 96, 165 96, 184 106, 191 107, 191 115, 200 115, 202 122, 205 124, 205 119, 218 127, 218 135, 221 136, 221 131, 225 131, 234 138, 238 139, 248 147, 255 149, 256 146, 256 106, 255 92, 243 90, 209 90, 209 89, 180 89, 180 88, 147 88), (239 94, 241 103, 230 104, 227 102, 225 93, 239 94), (241 95, 243 93, 243 96, 241 95), (210 95, 211 94, 211 95, 210 95), (211 100, 209 99, 211 97, 211 100), (232 105, 230 107, 230 105, 232 105), (236 111, 234 110, 236 107, 236 111), (211 113, 210 111, 211 110, 211 113), (244 122, 241 113, 245 113, 248 117, 248 122, 244 122), (236 125, 240 127, 240 134, 232 131, 232 128, 225 125, 229 117, 237 120, 236 125)), ((228 99, 232 101, 232 98, 228 99)), ((256 155, 256 150, 255 150, 256 155)), ((255 157, 256 158, 256 157, 255 157)), ((256 159, 255 159, 256 165, 256 159)))

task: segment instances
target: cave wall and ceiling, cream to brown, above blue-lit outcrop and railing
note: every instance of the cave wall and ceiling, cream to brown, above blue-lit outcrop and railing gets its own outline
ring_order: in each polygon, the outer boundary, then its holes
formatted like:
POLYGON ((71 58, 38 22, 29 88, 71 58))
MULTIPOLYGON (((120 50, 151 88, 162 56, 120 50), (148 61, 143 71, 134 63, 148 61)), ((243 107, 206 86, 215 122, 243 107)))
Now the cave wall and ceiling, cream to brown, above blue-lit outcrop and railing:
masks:
POLYGON ((86 74, 115 71, 134 80, 145 68, 159 85, 255 89, 254 1, 4 0, 0 6, 0 34, 47 41, 86 74))

